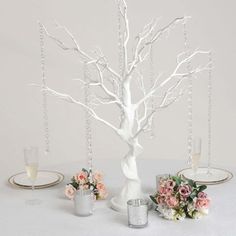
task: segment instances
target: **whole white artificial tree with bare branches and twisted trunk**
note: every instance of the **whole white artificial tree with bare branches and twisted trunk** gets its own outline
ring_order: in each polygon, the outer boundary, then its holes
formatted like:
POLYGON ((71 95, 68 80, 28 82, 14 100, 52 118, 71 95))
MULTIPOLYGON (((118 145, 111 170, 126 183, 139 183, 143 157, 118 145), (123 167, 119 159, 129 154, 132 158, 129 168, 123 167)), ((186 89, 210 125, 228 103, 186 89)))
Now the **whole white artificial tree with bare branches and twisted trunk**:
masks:
POLYGON ((127 200, 141 198, 143 193, 141 190, 141 181, 138 175, 136 158, 142 152, 143 148, 139 143, 140 134, 150 129, 154 114, 163 108, 173 104, 183 94, 180 88, 182 82, 189 78, 190 75, 206 70, 206 66, 192 68, 187 72, 182 72, 186 69, 186 65, 198 54, 208 53, 206 51, 195 50, 180 53, 177 56, 176 67, 173 72, 167 77, 159 75, 154 80, 150 88, 144 85, 144 75, 139 68, 150 55, 150 49, 163 34, 168 33, 170 29, 178 23, 185 23, 188 17, 180 17, 171 21, 168 25, 159 28, 156 21, 147 24, 141 33, 136 37, 135 50, 132 55, 128 55, 128 42, 130 40, 129 20, 127 16, 127 4, 125 0, 118 0, 119 11, 122 16, 124 30, 122 30, 122 51, 123 51, 123 72, 116 72, 107 62, 106 57, 101 53, 101 50, 96 51, 92 55, 83 50, 72 33, 64 26, 58 25, 58 28, 63 30, 72 40, 72 45, 69 46, 58 37, 52 35, 43 26, 45 33, 56 44, 66 51, 78 53, 82 63, 88 68, 96 70, 96 75, 90 78, 89 81, 80 80, 84 85, 101 89, 105 97, 99 97, 94 94, 96 103, 107 105, 116 105, 121 116, 119 117, 119 126, 116 127, 111 122, 102 118, 95 109, 85 103, 73 98, 68 94, 55 91, 52 88, 43 86, 43 89, 48 93, 53 94, 67 102, 74 103, 86 109, 90 115, 110 127, 129 147, 128 153, 121 161, 122 172, 126 178, 124 187, 119 195, 111 200, 112 207, 118 211, 126 209, 127 200), (133 82, 138 81, 139 88, 142 92, 142 97, 138 101, 133 101, 134 89, 133 82), (111 83, 113 86, 109 86, 111 83), (178 89, 178 90, 177 90, 178 89), (163 92, 164 90, 164 92, 163 92), (178 93, 176 93, 178 91, 178 93), (151 107, 152 99, 158 98, 155 107, 151 107))

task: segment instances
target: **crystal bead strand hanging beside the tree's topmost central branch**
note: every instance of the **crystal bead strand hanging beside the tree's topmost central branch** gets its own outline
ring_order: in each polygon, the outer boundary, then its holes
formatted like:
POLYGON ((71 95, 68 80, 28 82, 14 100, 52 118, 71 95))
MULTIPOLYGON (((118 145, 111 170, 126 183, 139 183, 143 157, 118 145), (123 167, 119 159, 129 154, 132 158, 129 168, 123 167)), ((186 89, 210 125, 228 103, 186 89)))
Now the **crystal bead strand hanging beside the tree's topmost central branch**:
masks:
MULTIPOLYGON (((120 0, 117 0, 117 23, 118 23, 118 67, 119 67, 119 74, 121 79, 123 78, 124 73, 124 50, 123 50, 123 34, 122 34, 122 26, 121 26, 121 13, 120 13, 120 0)), ((121 100, 123 99, 123 86, 122 81, 120 81, 120 92, 119 96, 121 100)), ((123 113, 121 112, 120 119, 123 118, 123 113)))

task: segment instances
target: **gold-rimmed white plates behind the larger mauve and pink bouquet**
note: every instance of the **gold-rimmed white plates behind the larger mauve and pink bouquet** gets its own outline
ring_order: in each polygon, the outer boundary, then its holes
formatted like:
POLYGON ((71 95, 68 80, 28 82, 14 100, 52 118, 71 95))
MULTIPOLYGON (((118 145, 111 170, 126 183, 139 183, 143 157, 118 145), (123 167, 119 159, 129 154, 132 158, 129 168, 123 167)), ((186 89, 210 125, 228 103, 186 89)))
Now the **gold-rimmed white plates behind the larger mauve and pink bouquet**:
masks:
POLYGON ((221 184, 233 178, 233 174, 228 170, 210 168, 210 173, 208 173, 207 167, 199 167, 196 174, 193 173, 191 168, 186 168, 180 170, 177 175, 182 176, 185 179, 192 179, 198 184, 205 185, 221 184))

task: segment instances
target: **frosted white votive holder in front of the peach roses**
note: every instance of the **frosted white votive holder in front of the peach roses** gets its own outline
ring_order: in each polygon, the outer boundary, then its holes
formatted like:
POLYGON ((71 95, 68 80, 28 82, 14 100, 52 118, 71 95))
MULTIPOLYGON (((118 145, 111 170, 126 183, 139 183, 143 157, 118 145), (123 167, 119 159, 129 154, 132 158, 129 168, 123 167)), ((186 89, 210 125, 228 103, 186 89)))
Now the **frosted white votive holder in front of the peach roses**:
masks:
POLYGON ((74 197, 75 214, 89 216, 93 214, 94 195, 92 190, 78 190, 74 197))

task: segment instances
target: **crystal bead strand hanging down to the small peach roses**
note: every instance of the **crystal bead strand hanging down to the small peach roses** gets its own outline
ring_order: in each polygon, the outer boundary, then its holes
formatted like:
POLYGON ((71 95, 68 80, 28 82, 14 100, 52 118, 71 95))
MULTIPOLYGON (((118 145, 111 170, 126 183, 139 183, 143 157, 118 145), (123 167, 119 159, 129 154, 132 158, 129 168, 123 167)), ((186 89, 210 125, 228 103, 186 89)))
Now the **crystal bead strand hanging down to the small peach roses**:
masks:
MULTIPOLYGON (((90 101, 90 71, 88 68, 88 65, 86 62, 84 63, 84 81, 85 81, 85 87, 84 87, 84 95, 85 95, 85 105, 90 107, 91 101, 90 101)), ((88 110, 85 112, 85 127, 86 127, 86 156, 88 161, 88 171, 89 171, 89 182, 92 183, 92 169, 93 169, 93 150, 92 150, 92 129, 91 129, 91 114, 88 110)))

